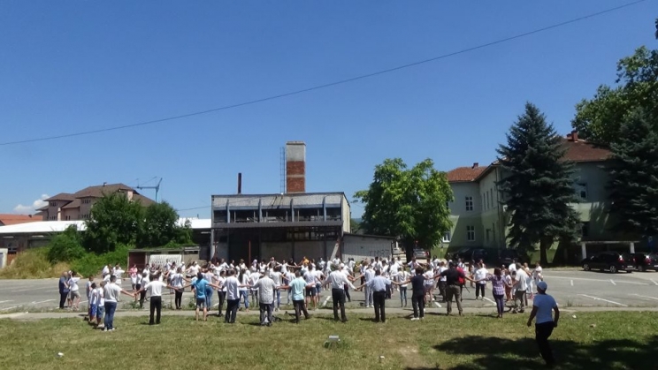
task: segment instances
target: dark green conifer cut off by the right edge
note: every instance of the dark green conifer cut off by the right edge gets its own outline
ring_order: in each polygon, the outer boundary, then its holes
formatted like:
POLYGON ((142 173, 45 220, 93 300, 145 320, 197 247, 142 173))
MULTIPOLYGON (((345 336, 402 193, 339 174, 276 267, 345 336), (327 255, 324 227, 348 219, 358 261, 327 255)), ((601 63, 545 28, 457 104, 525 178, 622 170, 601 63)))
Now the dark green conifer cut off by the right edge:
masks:
POLYGON ((658 133, 650 119, 641 109, 633 111, 611 147, 610 211, 614 229, 631 238, 658 231, 658 133))

